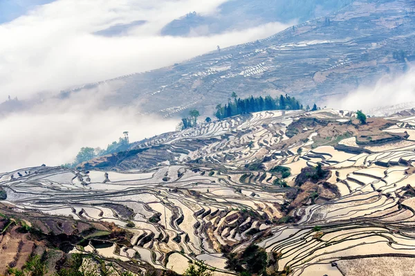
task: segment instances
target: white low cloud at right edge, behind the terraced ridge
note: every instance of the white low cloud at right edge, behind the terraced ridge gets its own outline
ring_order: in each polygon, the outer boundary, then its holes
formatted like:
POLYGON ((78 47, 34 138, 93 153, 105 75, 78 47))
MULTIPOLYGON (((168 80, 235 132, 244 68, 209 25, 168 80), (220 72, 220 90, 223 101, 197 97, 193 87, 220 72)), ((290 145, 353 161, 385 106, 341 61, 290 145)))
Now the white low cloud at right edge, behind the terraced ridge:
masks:
POLYGON ((385 75, 375 86, 360 86, 344 97, 330 99, 325 105, 330 108, 369 112, 400 104, 405 107, 408 102, 415 102, 415 68, 403 75, 385 75))

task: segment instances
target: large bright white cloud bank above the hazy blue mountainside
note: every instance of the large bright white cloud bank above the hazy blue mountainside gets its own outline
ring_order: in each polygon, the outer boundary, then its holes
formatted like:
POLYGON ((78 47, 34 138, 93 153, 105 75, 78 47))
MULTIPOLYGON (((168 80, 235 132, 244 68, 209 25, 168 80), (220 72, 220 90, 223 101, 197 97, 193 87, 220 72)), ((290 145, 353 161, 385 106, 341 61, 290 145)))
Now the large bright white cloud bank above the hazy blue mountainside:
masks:
MULTIPOLYGON (((286 28, 266 24, 208 37, 161 37, 169 21, 196 10, 212 14, 226 0, 58 0, 0 25, 0 93, 24 98, 39 91, 148 71, 286 28), (120 37, 93 33, 137 20, 120 37)), ((1 99, 1 98, 0 98, 1 99)))

